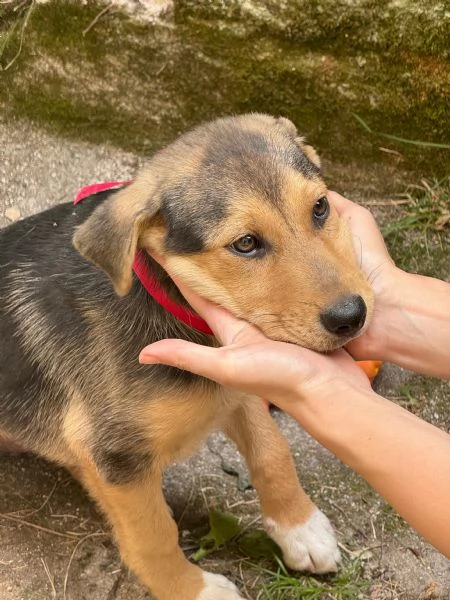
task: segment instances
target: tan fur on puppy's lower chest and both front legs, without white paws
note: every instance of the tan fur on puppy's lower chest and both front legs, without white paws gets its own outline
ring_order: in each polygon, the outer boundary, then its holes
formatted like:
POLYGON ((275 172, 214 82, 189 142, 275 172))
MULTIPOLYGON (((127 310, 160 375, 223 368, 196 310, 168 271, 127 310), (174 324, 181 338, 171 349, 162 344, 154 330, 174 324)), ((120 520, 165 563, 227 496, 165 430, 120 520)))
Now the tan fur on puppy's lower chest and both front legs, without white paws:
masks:
MULTIPOLYGON (((73 445, 74 475, 108 515, 124 562, 156 597, 195 600, 201 571, 178 547, 178 532, 161 491, 164 467, 192 452, 213 427, 223 428, 247 461, 265 518, 293 527, 307 521, 314 505, 301 488, 285 438, 259 398, 239 392, 215 397, 161 398, 148 414, 149 442, 159 451, 159 467, 138 483, 108 484, 93 461, 73 445), (195 432, 195 435, 193 435, 195 432), (261 444, 261 440, 264 443, 261 444)), ((80 407, 67 417, 66 433, 85 423, 80 407)))

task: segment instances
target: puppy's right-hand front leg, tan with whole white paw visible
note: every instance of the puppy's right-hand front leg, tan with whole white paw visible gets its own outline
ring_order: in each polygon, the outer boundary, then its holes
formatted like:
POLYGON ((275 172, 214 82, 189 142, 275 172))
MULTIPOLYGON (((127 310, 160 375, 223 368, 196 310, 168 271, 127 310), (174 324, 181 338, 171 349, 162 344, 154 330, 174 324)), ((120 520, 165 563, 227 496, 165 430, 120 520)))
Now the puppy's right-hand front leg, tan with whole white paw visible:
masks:
POLYGON ((288 444, 258 398, 245 397, 225 426, 250 469, 264 525, 292 569, 337 570, 339 550, 327 517, 303 491, 288 444))

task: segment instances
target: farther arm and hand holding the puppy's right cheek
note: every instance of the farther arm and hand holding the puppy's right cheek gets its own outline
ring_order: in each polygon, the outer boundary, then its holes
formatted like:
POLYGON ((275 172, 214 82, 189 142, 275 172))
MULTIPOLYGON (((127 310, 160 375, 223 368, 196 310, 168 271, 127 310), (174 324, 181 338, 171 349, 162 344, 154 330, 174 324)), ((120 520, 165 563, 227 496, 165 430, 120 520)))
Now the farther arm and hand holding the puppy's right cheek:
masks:
POLYGON ((372 322, 347 345, 349 352, 357 360, 379 359, 450 379, 450 284, 397 268, 371 213, 335 192, 329 198, 349 221, 375 291, 372 322))

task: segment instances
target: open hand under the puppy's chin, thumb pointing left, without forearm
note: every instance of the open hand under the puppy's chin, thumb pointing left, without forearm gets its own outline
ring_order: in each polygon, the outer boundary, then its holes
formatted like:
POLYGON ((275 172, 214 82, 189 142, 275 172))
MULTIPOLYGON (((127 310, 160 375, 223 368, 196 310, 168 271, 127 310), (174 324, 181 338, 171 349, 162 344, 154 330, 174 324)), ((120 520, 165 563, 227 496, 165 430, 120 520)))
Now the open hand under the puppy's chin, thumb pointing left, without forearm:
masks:
MULTIPOLYGON (((160 257, 158 260, 161 262, 160 257)), ((176 278, 174 281, 222 346, 161 340, 142 350, 141 363, 162 363, 191 371, 266 398, 286 412, 292 413, 295 408, 297 418, 298 402, 304 397, 322 399, 350 388, 370 389, 368 379, 345 350, 323 355, 272 341, 257 327, 201 298, 176 278)))

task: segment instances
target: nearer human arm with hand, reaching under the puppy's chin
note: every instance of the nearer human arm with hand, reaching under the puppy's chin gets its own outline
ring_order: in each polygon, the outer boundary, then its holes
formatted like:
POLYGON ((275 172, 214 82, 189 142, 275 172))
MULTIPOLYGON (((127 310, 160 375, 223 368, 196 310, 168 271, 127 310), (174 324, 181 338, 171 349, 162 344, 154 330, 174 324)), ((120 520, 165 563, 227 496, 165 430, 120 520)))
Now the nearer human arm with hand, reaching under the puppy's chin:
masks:
POLYGON ((180 285, 223 346, 162 340, 141 352, 269 398, 366 479, 450 557, 450 437, 375 394, 345 350, 322 355, 266 338, 180 285))

